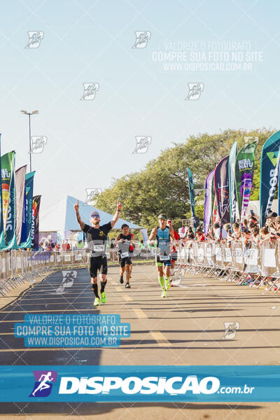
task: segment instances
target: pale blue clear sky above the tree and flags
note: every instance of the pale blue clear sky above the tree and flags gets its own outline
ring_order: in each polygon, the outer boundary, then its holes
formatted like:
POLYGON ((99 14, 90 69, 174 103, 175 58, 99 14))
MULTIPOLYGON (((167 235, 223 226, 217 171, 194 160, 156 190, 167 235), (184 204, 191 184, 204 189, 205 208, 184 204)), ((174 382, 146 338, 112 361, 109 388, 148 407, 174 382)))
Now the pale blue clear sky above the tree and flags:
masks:
POLYGON ((33 155, 41 215, 190 134, 279 128, 279 12, 276 0, 2 3, 2 153, 29 162, 20 110, 38 109, 31 134, 48 137, 33 155), (25 48, 28 31, 43 31, 38 48, 25 48), (132 48, 135 31, 151 32, 145 48, 132 48), (80 100, 83 83, 99 83, 94 99, 80 100), (200 99, 186 99, 188 83, 203 83, 200 99), (152 138, 147 153, 132 153, 136 136, 152 138))

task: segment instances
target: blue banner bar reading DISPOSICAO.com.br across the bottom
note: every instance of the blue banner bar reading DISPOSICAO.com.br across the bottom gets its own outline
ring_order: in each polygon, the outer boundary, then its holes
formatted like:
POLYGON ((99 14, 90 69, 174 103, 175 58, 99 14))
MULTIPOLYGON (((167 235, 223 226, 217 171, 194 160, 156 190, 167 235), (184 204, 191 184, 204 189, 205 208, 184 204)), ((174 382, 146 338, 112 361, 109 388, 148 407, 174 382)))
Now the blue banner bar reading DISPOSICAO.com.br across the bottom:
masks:
POLYGON ((280 366, 0 366, 1 402, 280 401, 280 366))

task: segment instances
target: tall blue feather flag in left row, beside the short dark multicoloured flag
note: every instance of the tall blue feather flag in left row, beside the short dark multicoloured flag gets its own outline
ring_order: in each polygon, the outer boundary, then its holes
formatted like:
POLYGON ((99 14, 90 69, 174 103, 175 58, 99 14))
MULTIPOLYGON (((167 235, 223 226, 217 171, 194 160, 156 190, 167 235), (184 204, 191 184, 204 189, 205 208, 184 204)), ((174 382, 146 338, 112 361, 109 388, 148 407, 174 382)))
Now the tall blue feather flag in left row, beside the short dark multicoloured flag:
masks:
POLYGON ((22 214, 22 236, 20 239, 20 248, 31 248, 34 174, 35 172, 29 172, 25 176, 25 209, 22 214))

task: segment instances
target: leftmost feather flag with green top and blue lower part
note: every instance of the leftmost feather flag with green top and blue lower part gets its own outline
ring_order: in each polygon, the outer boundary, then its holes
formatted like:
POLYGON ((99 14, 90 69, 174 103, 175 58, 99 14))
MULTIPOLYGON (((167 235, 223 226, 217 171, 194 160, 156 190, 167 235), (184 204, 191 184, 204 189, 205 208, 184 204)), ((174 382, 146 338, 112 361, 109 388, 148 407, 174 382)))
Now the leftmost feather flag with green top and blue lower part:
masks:
POLYGON ((1 157, 1 182, 3 202, 3 231, 5 246, 3 250, 18 248, 16 236, 15 210, 15 152, 1 157))

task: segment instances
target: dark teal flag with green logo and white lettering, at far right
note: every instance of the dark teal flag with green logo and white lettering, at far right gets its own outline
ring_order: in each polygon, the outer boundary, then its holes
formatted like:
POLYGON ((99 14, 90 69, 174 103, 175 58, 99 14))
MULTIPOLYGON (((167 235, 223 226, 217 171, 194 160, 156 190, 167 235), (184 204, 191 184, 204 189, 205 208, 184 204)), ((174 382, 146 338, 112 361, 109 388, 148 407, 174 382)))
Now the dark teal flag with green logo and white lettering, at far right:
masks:
POLYGON ((276 191, 276 165, 280 147, 280 131, 272 134, 262 147, 260 158, 260 227, 265 225, 265 218, 272 207, 276 191))

